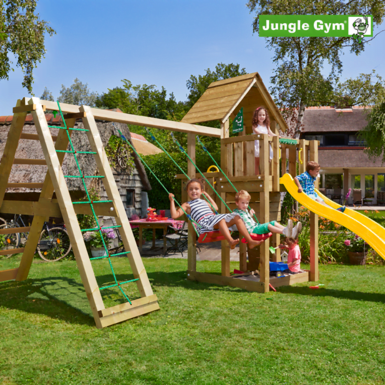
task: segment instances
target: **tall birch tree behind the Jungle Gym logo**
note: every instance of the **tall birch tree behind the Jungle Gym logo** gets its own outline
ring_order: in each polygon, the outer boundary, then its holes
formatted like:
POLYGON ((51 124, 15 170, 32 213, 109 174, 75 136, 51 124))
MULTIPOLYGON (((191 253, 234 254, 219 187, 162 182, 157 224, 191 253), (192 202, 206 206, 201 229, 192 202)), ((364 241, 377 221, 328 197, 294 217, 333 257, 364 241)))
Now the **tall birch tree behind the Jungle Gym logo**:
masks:
MULTIPOLYGON (((300 7, 297 3, 286 0, 250 0, 247 6, 250 12, 257 15, 253 22, 253 32, 256 33, 259 32, 258 15, 372 15, 374 26, 382 23, 385 13, 383 3, 377 0, 303 0, 300 7)), ((306 106, 327 105, 332 100, 341 100, 340 95, 334 93, 334 88, 339 81, 338 75, 342 72, 342 48, 350 47, 350 53, 359 55, 374 38, 375 36, 362 43, 351 41, 350 37, 265 38, 267 48, 274 49, 273 62, 277 65, 270 78, 275 102, 285 119, 292 118, 296 114, 295 110, 298 111, 295 137, 299 137, 306 106), (331 65, 331 70, 325 78, 321 69, 326 60, 331 65)))

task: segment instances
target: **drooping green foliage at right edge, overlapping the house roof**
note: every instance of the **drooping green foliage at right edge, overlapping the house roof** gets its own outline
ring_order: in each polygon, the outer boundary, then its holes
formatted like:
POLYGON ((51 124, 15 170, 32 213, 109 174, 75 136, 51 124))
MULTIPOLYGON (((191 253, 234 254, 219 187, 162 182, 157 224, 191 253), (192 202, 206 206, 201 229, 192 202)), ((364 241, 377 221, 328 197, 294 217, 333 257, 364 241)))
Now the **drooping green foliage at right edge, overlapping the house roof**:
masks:
POLYGON ((381 156, 385 162, 385 101, 373 106, 367 116, 368 125, 358 132, 358 138, 365 140, 367 147, 364 152, 375 161, 381 156))

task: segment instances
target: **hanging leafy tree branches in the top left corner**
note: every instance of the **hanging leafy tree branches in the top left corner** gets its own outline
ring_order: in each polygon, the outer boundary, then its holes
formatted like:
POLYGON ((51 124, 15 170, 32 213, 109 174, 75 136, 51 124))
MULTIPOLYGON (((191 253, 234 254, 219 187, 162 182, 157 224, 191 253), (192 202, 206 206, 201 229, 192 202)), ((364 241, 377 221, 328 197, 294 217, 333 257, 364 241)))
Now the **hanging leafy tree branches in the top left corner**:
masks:
POLYGON ((17 58, 16 66, 24 73, 23 87, 32 94, 33 69, 46 53, 45 37, 56 32, 48 22, 35 15, 37 0, 0 0, 0 79, 9 79, 15 71, 10 54, 17 58))

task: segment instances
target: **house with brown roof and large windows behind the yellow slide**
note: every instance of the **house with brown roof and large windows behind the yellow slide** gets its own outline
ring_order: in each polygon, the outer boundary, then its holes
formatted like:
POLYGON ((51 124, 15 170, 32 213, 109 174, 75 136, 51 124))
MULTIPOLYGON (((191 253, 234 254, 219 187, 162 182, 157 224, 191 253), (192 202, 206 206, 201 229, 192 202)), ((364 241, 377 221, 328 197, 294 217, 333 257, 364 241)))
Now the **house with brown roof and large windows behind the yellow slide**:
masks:
MULTIPOLYGON (((361 189, 362 198, 377 203, 377 193, 385 191, 385 164, 364 153, 365 143, 357 138, 367 125, 370 108, 306 107, 301 139, 319 140, 320 188, 361 189)), ((352 203, 352 197, 349 199, 352 203)))

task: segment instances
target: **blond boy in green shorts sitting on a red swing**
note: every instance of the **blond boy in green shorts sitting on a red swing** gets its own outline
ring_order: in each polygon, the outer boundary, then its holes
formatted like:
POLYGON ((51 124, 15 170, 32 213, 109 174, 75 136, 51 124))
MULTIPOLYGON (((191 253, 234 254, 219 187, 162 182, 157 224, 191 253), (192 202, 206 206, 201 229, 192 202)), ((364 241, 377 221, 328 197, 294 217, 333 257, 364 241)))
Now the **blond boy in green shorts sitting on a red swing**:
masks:
POLYGON ((251 209, 250 213, 247 211, 250 199, 251 196, 247 191, 238 191, 238 193, 235 195, 235 204, 237 205, 238 209, 234 210, 234 212, 237 213, 245 222, 246 229, 249 234, 267 234, 269 232, 272 232, 277 234, 283 234, 285 237, 288 238, 296 238, 298 233, 300 233, 302 229, 301 223, 298 222, 296 227, 293 229, 293 222, 290 219, 287 221, 286 227, 282 226, 276 221, 271 221, 263 224, 258 223, 257 220, 257 222, 254 222, 253 218, 251 217, 255 214, 254 210, 251 209))

